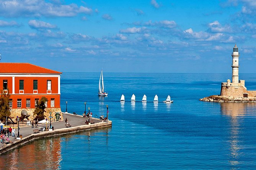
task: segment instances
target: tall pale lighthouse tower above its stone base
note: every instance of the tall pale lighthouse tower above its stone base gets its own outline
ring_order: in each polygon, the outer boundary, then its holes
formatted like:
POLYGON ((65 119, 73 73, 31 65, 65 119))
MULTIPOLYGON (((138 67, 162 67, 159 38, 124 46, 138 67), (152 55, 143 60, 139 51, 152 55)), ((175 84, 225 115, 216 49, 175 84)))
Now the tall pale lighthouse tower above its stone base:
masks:
POLYGON ((233 53, 232 53, 232 83, 238 83, 238 61, 239 61, 239 53, 238 53, 238 47, 233 47, 233 53))

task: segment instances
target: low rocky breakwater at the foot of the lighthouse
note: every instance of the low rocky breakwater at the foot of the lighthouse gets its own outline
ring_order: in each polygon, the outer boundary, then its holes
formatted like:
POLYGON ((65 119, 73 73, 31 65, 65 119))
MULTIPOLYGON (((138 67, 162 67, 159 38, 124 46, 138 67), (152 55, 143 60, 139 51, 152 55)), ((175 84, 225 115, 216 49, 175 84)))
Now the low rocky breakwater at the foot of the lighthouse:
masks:
POLYGON ((212 95, 199 99, 200 101, 214 101, 214 102, 256 102, 256 98, 234 98, 234 97, 225 97, 212 95))

